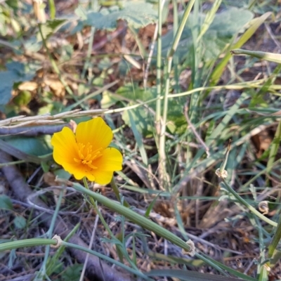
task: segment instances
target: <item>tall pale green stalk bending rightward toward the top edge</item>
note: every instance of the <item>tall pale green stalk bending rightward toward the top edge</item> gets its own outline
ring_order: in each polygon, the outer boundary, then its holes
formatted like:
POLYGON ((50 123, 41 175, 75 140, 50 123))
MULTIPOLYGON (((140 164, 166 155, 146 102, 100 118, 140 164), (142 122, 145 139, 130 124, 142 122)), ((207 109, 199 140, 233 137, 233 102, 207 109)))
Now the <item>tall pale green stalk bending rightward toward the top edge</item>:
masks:
POLYGON ((178 48, 178 42, 181 39, 181 34, 183 33, 183 28, 185 27, 186 21, 188 20, 188 16, 190 15, 190 11, 192 9, 195 0, 190 0, 188 2, 188 6, 186 6, 185 11, 183 13, 183 18, 181 19, 181 23, 176 32, 176 36, 174 37, 174 41, 169 49, 166 57, 166 83, 165 83, 165 92, 164 92, 164 107, 162 113, 162 124, 160 127, 159 134, 159 163, 162 166, 162 183, 164 183, 164 188, 167 190, 167 185, 169 181, 166 176, 166 152, 165 152, 165 144, 166 144, 166 122, 168 115, 168 95, 169 95, 169 87, 170 87, 170 74, 171 74, 171 65, 173 61, 174 53, 176 52, 176 48, 178 48))

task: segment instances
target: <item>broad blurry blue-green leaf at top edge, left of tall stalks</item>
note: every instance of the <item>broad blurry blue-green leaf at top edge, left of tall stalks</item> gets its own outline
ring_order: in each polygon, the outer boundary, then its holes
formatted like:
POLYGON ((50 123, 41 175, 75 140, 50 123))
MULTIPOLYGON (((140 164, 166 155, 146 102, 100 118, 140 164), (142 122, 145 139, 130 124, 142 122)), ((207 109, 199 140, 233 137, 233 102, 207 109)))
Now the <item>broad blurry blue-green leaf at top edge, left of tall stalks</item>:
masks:
POLYGON ((87 13, 86 25, 96 27, 98 30, 115 30, 117 20, 126 20, 134 28, 145 27, 157 21, 157 11, 152 4, 145 2, 128 1, 124 8, 104 8, 100 12, 87 13))

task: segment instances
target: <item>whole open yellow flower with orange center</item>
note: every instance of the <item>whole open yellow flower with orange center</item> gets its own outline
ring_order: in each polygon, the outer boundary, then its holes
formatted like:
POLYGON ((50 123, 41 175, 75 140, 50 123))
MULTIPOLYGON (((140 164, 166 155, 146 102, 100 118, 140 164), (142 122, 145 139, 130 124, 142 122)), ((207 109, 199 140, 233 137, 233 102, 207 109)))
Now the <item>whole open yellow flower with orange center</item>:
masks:
POLYGON ((122 169, 122 154, 107 148, 113 133, 101 117, 78 124, 76 133, 68 127, 53 134, 53 159, 77 180, 107 184, 114 171, 122 169))

